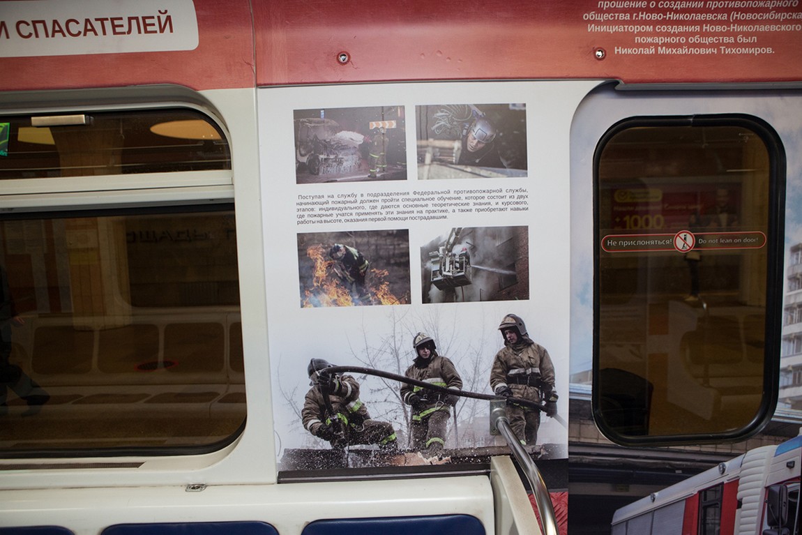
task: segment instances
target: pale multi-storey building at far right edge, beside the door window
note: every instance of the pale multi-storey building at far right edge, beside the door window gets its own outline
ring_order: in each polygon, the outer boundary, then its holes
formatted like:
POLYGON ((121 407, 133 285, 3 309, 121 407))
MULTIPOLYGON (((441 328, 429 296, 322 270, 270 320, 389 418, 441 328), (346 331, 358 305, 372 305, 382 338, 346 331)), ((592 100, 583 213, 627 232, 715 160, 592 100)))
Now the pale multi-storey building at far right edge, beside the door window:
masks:
POLYGON ((802 408, 802 243, 788 254, 780 353, 780 406, 802 408))

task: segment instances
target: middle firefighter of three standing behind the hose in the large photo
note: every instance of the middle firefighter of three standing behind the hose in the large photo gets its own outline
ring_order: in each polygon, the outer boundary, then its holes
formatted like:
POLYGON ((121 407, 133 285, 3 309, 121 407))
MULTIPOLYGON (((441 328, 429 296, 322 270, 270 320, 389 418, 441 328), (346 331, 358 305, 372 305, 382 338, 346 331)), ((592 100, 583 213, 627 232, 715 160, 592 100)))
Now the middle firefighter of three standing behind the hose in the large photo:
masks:
MULTIPOLYGON (((415 348, 415 360, 404 375, 438 387, 452 390, 462 388, 462 379, 454 363, 438 355, 435 341, 431 336, 425 333, 415 334, 412 347, 415 348)), ((451 407, 456 405, 460 398, 442 391, 403 383, 401 399, 412 407, 412 448, 423 452, 427 457, 438 456, 445 446, 451 407)))

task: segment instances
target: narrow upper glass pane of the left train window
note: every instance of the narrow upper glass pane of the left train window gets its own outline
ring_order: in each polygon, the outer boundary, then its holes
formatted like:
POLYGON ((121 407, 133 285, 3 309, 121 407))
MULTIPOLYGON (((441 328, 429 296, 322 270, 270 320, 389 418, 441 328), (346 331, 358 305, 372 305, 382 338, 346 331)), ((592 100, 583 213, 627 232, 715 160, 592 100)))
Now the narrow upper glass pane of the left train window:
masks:
POLYGON ((224 132, 184 108, 0 116, 0 180, 231 168, 224 132))

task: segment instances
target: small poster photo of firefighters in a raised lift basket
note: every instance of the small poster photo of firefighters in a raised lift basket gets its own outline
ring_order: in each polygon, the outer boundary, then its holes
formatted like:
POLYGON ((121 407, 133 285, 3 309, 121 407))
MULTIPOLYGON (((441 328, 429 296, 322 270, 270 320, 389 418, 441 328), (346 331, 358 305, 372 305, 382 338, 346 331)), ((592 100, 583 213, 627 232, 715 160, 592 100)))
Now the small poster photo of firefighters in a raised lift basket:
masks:
POLYGON ((454 227, 420 248, 424 303, 529 299, 529 227, 454 227))

